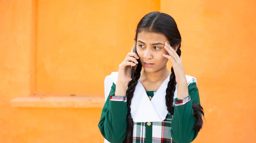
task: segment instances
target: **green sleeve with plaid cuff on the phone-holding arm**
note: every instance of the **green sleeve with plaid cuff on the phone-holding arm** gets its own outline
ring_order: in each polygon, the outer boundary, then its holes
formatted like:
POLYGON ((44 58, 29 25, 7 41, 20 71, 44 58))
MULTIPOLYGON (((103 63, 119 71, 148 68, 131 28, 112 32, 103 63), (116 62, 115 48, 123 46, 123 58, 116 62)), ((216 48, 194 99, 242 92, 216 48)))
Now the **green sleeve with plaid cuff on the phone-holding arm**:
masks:
POLYGON ((116 85, 113 83, 109 96, 103 106, 99 130, 111 143, 121 143, 126 135, 127 102, 126 96, 115 96, 116 85))

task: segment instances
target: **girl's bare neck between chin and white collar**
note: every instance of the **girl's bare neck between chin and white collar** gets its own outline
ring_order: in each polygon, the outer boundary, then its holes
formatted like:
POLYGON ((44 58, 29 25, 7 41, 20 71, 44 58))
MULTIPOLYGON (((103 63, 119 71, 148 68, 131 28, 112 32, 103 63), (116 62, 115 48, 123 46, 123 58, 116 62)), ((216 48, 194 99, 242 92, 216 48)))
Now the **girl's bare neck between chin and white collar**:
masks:
POLYGON ((158 82, 160 80, 165 80, 169 75, 171 74, 170 71, 168 71, 167 67, 163 67, 161 70, 156 72, 147 72, 145 70, 141 71, 141 78, 143 81, 149 81, 149 82, 158 82))

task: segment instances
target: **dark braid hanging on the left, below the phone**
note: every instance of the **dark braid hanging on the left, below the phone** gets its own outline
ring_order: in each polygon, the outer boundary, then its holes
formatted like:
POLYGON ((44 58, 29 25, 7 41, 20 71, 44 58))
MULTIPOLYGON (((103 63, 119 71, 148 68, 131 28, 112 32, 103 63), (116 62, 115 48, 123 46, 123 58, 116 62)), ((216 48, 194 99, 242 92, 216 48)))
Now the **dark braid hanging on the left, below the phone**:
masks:
POLYGON ((133 98, 133 92, 135 90, 135 87, 138 83, 139 77, 140 77, 140 71, 142 68, 142 65, 140 61, 138 61, 138 66, 135 71, 135 77, 128 83, 128 88, 126 90, 126 96, 127 96, 127 129, 126 129, 126 136, 123 141, 123 143, 131 143, 133 142, 133 119, 131 117, 131 102, 133 98))

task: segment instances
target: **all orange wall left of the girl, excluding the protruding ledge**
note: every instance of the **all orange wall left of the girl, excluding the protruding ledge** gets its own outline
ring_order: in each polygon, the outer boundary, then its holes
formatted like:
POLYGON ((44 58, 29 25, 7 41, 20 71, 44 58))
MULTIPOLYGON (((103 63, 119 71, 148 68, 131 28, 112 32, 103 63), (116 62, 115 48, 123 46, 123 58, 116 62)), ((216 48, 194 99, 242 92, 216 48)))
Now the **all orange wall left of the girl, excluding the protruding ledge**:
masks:
POLYGON ((104 77, 130 51, 139 19, 160 10, 160 1, 144 3, 0 1, 0 142, 103 142, 100 108, 14 108, 10 101, 103 96, 104 77))

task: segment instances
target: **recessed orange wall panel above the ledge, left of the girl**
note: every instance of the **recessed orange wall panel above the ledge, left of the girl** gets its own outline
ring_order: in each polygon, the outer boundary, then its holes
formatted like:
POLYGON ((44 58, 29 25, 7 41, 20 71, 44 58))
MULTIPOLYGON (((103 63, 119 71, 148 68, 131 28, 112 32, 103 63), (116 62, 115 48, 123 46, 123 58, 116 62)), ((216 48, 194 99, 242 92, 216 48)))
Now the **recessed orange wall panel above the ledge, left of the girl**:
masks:
POLYGON ((159 0, 39 0, 36 91, 103 95, 105 76, 135 43, 139 19, 154 10, 159 0))

